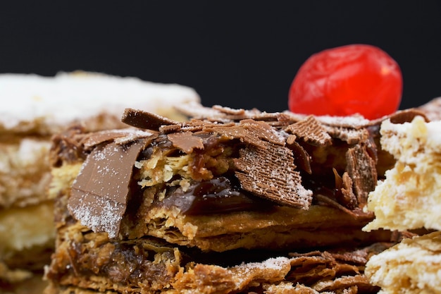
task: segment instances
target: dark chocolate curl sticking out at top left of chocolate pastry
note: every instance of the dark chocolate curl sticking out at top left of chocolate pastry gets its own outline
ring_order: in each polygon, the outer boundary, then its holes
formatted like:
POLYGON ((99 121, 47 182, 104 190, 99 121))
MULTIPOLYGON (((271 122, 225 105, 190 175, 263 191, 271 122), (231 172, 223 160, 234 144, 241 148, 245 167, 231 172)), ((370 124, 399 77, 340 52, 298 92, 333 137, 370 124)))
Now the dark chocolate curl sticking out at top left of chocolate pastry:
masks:
POLYGON ((124 111, 121 121, 135 128, 147 130, 159 130, 161 125, 176 125, 178 122, 169 118, 152 114, 151 112, 127 108, 124 111))

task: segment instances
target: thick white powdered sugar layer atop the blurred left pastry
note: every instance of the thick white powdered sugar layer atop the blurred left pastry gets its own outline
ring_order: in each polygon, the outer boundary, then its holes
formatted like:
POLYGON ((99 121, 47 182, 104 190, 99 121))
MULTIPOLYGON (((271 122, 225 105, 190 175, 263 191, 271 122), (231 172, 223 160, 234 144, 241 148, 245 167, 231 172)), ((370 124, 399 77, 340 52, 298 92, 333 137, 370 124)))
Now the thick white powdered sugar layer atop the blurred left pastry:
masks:
POLYGON ((55 77, 1 74, 0 126, 42 120, 63 125, 101 113, 120 117, 126 107, 156 112, 161 108, 199 102, 190 87, 147 82, 99 73, 58 73, 55 77))

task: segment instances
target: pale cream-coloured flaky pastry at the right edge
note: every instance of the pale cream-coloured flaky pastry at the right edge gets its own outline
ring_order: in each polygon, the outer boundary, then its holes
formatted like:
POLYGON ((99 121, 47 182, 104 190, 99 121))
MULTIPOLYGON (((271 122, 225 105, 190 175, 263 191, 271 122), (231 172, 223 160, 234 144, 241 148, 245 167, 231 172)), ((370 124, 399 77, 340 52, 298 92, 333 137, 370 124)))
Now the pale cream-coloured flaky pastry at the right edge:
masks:
POLYGON ((418 230, 367 263, 366 276, 381 293, 441 292, 440 102, 421 106, 436 121, 416 116, 408 123, 387 120, 380 128, 383 149, 396 163, 368 196, 366 209, 375 219, 364 231, 418 230))

